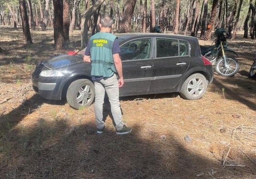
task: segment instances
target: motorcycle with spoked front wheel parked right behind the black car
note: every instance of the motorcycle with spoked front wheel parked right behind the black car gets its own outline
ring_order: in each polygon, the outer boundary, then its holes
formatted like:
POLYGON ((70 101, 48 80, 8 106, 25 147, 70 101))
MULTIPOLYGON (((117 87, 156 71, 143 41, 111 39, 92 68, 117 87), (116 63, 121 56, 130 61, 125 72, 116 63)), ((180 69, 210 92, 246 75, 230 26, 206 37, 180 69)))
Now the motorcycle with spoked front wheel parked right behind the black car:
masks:
POLYGON ((215 72, 224 77, 232 77, 238 72, 240 64, 234 56, 238 56, 237 53, 227 47, 228 36, 225 36, 225 33, 227 31, 224 28, 216 29, 214 35, 217 38, 213 41, 214 45, 200 48, 202 55, 211 61, 215 72))

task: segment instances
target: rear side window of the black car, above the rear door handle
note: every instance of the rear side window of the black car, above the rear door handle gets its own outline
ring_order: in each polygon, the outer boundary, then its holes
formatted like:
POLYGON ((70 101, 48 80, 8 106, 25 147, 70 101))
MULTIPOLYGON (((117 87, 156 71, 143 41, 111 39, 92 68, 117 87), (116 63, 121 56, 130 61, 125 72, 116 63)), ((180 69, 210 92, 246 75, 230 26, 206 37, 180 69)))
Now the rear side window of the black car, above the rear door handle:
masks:
POLYGON ((157 57, 186 56, 188 42, 177 39, 157 39, 157 57))

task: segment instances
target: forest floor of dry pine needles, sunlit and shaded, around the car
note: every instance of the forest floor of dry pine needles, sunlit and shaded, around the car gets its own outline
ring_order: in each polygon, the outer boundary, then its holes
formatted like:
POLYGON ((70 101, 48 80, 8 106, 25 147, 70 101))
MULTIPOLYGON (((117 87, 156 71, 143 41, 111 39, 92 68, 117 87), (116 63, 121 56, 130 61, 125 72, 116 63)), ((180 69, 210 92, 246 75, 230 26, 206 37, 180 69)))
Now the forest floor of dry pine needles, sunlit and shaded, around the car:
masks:
MULTIPOLYGON (((109 117, 96 134, 93 105, 74 110, 32 90, 35 64, 65 51, 54 50, 52 30, 31 36, 25 45, 21 29, 0 26, 0 179, 256 179, 256 40, 228 40, 240 70, 214 74, 200 100, 120 98, 132 133, 119 136, 109 117)), ((79 38, 74 31, 66 51, 79 38)))

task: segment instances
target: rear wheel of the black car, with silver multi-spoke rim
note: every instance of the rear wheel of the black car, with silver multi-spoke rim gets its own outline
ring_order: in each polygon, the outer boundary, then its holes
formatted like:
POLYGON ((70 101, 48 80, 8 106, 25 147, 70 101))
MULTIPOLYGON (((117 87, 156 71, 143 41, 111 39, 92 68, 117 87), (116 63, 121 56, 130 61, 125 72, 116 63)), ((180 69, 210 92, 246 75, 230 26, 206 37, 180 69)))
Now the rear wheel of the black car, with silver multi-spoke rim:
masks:
POLYGON ((195 73, 189 76, 181 87, 180 94, 188 100, 197 100, 203 97, 208 86, 208 81, 204 75, 195 73))

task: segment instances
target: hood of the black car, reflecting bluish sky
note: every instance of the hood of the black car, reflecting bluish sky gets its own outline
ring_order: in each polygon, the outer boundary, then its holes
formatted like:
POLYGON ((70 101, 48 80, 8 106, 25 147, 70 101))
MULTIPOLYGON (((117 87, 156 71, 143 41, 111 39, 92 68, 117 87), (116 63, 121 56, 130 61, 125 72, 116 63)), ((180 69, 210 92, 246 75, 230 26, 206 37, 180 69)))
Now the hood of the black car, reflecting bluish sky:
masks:
POLYGON ((43 61, 42 64, 50 69, 57 69, 74 63, 83 62, 83 56, 80 55, 60 55, 43 61))

